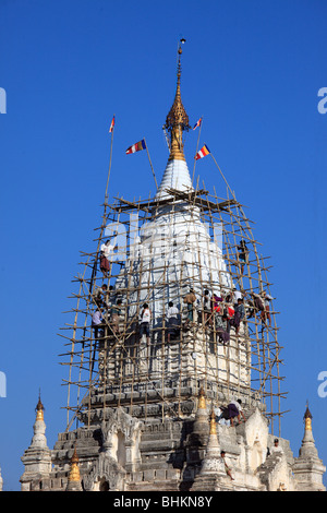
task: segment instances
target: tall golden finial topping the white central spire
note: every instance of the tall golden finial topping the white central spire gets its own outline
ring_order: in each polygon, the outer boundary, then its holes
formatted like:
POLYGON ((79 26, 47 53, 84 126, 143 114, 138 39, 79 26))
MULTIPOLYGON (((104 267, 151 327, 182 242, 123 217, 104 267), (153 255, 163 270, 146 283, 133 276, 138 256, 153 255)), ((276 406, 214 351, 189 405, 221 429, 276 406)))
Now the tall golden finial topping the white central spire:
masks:
POLYGON ((185 160, 183 151, 183 131, 189 130, 189 116, 184 109, 181 98, 181 55, 182 44, 185 39, 181 39, 178 49, 178 73, 177 90, 172 107, 166 118, 165 128, 170 132, 170 155, 169 160, 185 160))

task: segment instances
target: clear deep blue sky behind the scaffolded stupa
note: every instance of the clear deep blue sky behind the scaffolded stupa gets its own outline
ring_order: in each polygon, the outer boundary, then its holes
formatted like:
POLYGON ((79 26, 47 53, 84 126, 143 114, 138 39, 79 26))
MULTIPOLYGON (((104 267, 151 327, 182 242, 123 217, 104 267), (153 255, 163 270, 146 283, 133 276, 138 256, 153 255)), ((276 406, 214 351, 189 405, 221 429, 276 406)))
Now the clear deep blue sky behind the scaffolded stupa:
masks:
MULTIPOLYGON (((0 467, 20 489, 41 389, 48 445, 65 428, 66 369, 57 334, 68 322, 80 251, 92 251, 109 164, 109 194, 148 196, 167 163, 161 127, 175 87, 178 40, 186 39, 182 99, 274 266, 280 312, 281 434, 298 456, 306 401, 327 463, 325 336, 327 87, 324 0, 232 2, 0 0, 1 345, 0 467)), ((193 166, 194 133, 185 154, 193 166)), ((211 159, 196 171, 218 187, 211 159)), ((327 389, 327 387, 326 387, 327 389)), ((327 485, 325 479, 325 485, 327 485)))

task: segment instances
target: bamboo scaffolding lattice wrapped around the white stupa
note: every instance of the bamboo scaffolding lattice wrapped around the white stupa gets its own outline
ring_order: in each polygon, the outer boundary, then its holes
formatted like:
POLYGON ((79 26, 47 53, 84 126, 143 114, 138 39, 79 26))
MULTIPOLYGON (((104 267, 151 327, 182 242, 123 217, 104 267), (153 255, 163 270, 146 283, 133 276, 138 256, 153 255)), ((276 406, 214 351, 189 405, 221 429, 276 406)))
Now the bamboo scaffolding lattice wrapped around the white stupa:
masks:
MULTIPOLYGON (((62 359, 68 359, 68 361, 61 361, 61 365, 69 368, 69 378, 63 380, 69 390, 68 429, 72 426, 73 419, 83 417, 83 413, 87 416, 88 426, 90 425, 92 413, 98 407, 98 403, 92 401, 95 391, 102 394, 99 403, 102 408, 102 418, 106 418, 106 409, 110 404, 116 404, 117 407, 128 407, 129 405, 131 411, 135 406, 142 405, 146 420, 150 406, 158 404, 158 402, 162 421, 166 415, 182 418, 183 404, 193 394, 185 392, 185 383, 187 379, 192 381, 194 378, 196 391, 202 384, 207 393, 210 390, 223 390, 226 401, 235 394, 245 394, 249 403, 264 402, 271 429, 274 429, 277 418, 280 432, 280 418, 283 415, 281 398, 286 393, 280 389, 283 379, 279 369, 282 365, 280 358, 282 347, 277 341, 279 329, 276 315, 278 311, 274 309, 271 303, 269 313, 274 320, 272 327, 265 325, 257 312, 254 312, 253 318, 247 318, 247 313, 251 311, 249 303, 251 294, 259 294, 263 290, 270 294, 272 285, 268 279, 271 266, 265 263, 269 256, 258 254, 257 247, 261 243, 253 236, 251 229, 253 222, 244 214, 243 205, 237 201, 228 184, 225 199, 217 195, 216 189, 214 194, 208 193, 204 184, 199 189, 198 180, 196 188, 191 191, 182 192, 169 188, 167 193, 169 198, 165 200, 154 199, 149 195, 147 200, 138 199, 137 201, 114 198, 111 205, 106 201, 101 226, 95 228, 99 231, 99 236, 94 239, 96 250, 94 252, 81 251, 82 258, 85 259, 84 262, 81 262, 84 271, 72 281, 80 285, 78 291, 71 295, 71 298, 76 300, 76 307, 68 312, 74 314, 74 321, 61 329, 65 332, 71 331, 72 335, 60 334, 68 341, 65 346, 70 347, 70 350, 60 355, 62 359), (204 289, 214 290, 217 286, 213 277, 211 263, 209 272, 207 272, 204 266, 206 264, 202 261, 198 236, 193 248, 194 254, 197 255, 196 259, 192 262, 187 261, 187 266, 185 266, 189 251, 185 243, 182 253, 179 254, 181 263, 174 269, 175 277, 172 279, 172 274, 169 275, 171 262, 168 260, 167 253, 165 259, 160 258, 162 248, 165 253, 167 246, 172 248, 172 241, 164 240, 161 248, 157 240, 157 234, 152 232, 147 240, 148 258, 144 255, 141 258, 137 272, 135 272, 134 253, 136 249, 133 246, 135 239, 133 230, 146 227, 148 223, 166 215, 166 226, 170 227, 169 232, 172 232, 172 227, 177 232, 179 227, 183 228, 183 216, 181 219, 178 217, 183 205, 187 205, 190 215, 189 230, 197 226, 198 219, 208 226, 210 238, 206 241, 207 248, 209 241, 214 241, 214 227, 217 224, 221 226, 222 258, 226 270, 220 270, 219 275, 233 286, 238 285, 245 298, 246 317, 242 320, 241 334, 234 334, 232 329, 230 343, 226 346, 218 342, 215 319, 213 327, 209 329, 208 325, 205 325, 202 313, 191 329, 185 331, 182 324, 179 337, 174 339, 173 344, 167 342, 169 325, 166 322, 166 313, 168 302, 171 299, 170 294, 175 290, 173 293, 175 294, 174 302, 177 301, 181 306, 182 321, 186 313, 183 309, 185 288, 192 286, 196 289, 198 301, 202 301, 201 291, 204 289), (129 217, 131 214, 136 215, 136 228, 131 226, 131 217, 129 217), (110 271, 105 278, 97 266, 100 243, 108 238, 106 227, 110 223, 116 223, 118 227, 114 237, 125 237, 126 241, 125 248, 121 248, 121 252, 117 252, 116 259, 110 262, 110 271), (241 239, 246 241, 251 253, 251 258, 244 264, 243 273, 240 271, 241 261, 238 252, 241 239), (185 273, 186 270, 187 273, 185 273), (209 277, 204 277, 208 273, 209 277), (110 319, 106 319, 104 335, 99 341, 93 335, 90 318, 97 308, 93 291, 96 286, 101 284, 107 284, 107 286, 119 284, 119 288, 113 289, 113 296, 123 298, 123 317, 119 320, 118 333, 112 331, 110 319), (153 325, 150 341, 146 341, 144 346, 137 330, 140 311, 145 302, 155 301, 157 305, 156 297, 159 296, 162 320, 160 324, 153 325), (193 351, 190 350, 190 339, 193 351), (144 357, 142 356, 143 350, 144 357), (196 355, 196 357, 192 358, 192 355, 196 355), (75 372, 77 372, 76 375, 75 372), (170 382, 174 383, 172 386, 175 386, 173 394, 171 386, 169 386, 170 382), (74 405, 71 404, 73 402, 72 387, 77 389, 74 405), (114 391, 116 399, 107 399, 106 394, 110 390, 114 391), (140 396, 142 390, 143 399, 140 396), (86 391, 86 393, 81 396, 81 391, 86 391), (69 419, 70 413, 74 414, 73 419, 69 419)), ((192 239, 193 235, 190 232, 187 237, 192 239)), ((207 253, 209 254, 209 250, 207 253)), ((202 305, 197 305, 196 309, 202 312, 202 305)), ((215 403, 219 404, 218 395, 216 395, 215 403)))

